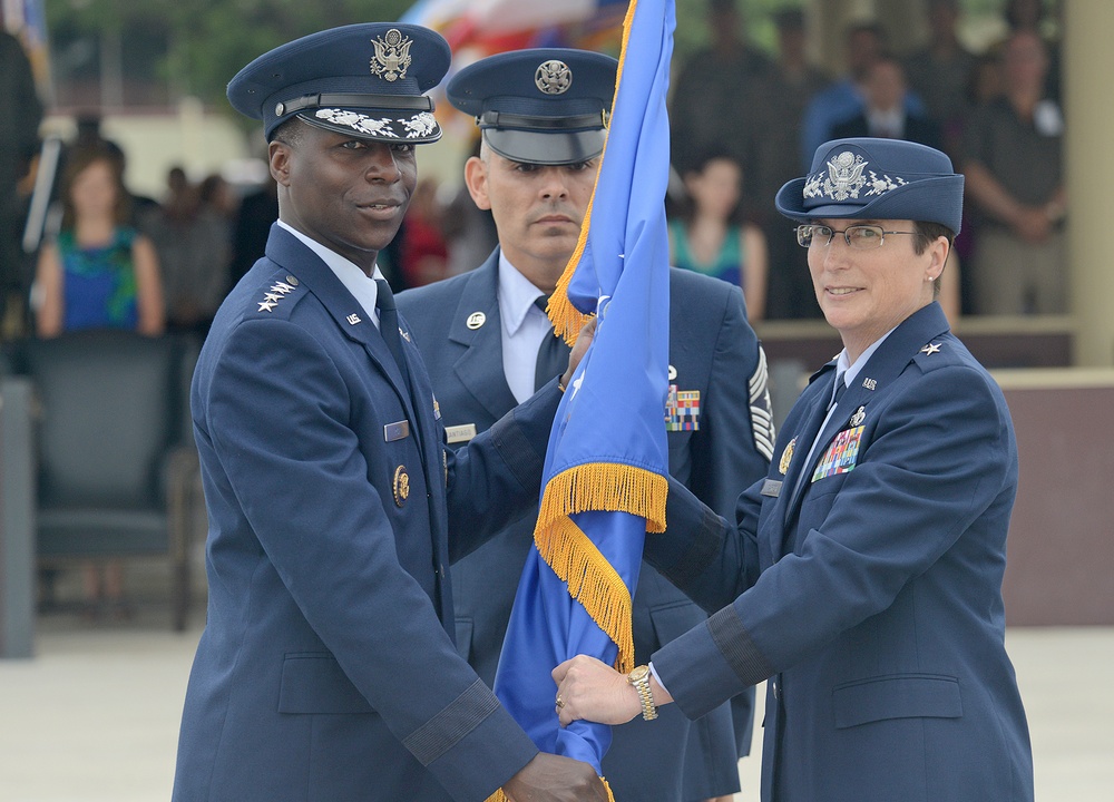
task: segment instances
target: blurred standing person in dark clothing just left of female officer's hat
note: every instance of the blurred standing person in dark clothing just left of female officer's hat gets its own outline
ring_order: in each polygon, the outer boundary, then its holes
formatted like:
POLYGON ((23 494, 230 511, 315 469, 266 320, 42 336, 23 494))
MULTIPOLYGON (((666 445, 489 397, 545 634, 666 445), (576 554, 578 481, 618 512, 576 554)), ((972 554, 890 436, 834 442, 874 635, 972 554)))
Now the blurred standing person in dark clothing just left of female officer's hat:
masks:
POLYGON ((801 138, 801 118, 812 97, 828 78, 805 58, 804 12, 774 12, 778 60, 765 84, 764 100, 752 113, 762 136, 754 139, 755 166, 746 176, 746 194, 753 198, 753 222, 766 239, 766 319, 819 317, 807 254, 798 246, 792 226, 778 214, 773 198, 781 186, 800 175, 794 143, 801 138))

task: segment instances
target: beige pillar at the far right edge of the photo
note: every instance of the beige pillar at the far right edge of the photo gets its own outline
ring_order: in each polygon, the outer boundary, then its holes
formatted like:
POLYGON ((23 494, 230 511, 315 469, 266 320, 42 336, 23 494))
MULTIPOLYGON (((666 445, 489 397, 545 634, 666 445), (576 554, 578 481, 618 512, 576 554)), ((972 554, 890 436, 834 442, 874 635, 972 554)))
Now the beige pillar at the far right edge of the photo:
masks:
POLYGON ((1068 193, 1067 242, 1076 363, 1114 364, 1114 2, 1065 0, 1064 97, 1068 193))

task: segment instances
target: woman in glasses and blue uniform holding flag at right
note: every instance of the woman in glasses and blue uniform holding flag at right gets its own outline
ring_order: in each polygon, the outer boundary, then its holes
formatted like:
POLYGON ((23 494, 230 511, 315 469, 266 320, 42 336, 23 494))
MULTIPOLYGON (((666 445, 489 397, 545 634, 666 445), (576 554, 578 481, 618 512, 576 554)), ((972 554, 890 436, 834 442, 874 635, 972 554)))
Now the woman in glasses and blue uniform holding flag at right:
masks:
MULTIPOLYGON (((668 531, 646 540, 717 610, 654 654, 654 698, 695 717, 769 679, 765 802, 1033 800, 1004 646, 1014 429, 935 300, 962 193, 939 150, 870 138, 823 144, 781 188, 843 350, 785 419, 737 527, 673 486, 668 531)), ((563 722, 642 710, 599 661, 555 678, 563 722)))

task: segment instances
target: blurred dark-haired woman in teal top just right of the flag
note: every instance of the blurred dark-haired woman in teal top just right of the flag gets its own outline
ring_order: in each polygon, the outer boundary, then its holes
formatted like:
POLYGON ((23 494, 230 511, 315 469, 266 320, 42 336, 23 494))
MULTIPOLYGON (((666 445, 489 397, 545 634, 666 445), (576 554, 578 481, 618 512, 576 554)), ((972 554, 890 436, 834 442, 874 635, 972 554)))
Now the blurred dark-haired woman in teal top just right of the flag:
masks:
POLYGON ((743 172, 734 157, 709 151, 682 176, 685 213, 670 222, 670 258, 676 267, 742 288, 751 323, 765 313, 766 246, 762 229, 737 222, 743 172))

